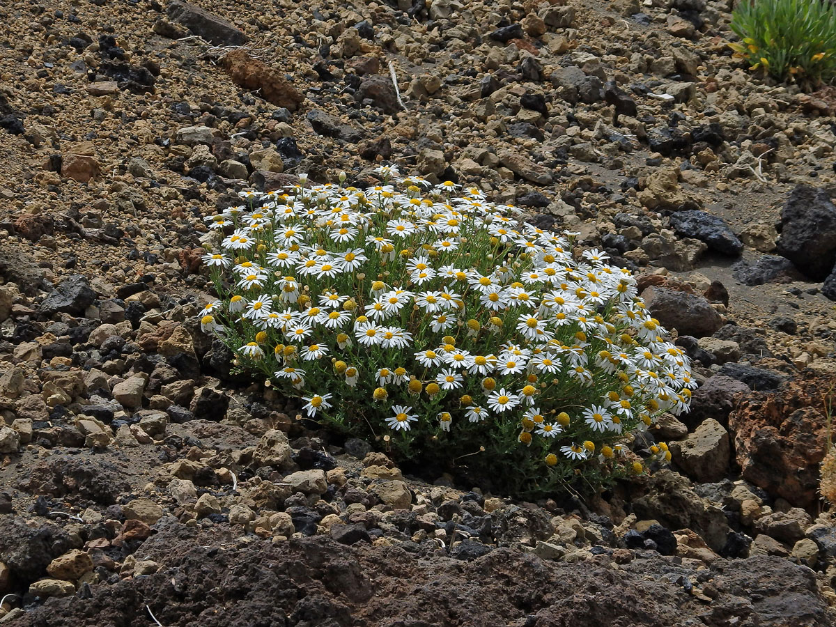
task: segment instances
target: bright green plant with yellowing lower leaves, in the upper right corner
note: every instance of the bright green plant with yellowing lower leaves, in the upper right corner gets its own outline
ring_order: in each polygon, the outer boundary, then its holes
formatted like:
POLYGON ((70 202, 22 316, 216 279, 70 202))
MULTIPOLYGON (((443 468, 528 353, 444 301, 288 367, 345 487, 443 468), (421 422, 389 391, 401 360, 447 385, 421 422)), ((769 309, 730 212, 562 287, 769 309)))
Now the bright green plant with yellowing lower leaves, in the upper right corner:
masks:
POLYGON ((828 0, 742 0, 732 14, 750 69, 814 87, 836 75, 836 4, 828 0))

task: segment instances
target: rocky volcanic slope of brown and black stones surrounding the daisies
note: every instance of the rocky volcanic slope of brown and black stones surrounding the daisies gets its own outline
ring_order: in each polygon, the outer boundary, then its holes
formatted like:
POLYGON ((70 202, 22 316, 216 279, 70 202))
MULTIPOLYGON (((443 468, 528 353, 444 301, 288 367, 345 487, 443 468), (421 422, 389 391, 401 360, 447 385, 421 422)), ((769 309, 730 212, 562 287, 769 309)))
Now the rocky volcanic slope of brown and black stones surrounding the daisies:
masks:
POLYGON ((731 4, 0 5, 0 624, 833 624, 836 91, 731 4), (515 502, 231 373, 203 218, 380 162, 639 275, 701 384, 670 469, 515 502))

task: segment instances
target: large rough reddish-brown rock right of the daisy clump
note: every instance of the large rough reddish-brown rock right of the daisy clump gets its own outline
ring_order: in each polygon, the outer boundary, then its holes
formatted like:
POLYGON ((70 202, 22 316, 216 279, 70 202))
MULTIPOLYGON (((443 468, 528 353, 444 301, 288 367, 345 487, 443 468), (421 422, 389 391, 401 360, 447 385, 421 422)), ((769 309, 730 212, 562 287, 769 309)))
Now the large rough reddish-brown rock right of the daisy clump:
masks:
POLYGON ((729 415, 742 477, 798 507, 818 499, 819 464, 827 442, 823 380, 790 382, 754 392, 729 415))

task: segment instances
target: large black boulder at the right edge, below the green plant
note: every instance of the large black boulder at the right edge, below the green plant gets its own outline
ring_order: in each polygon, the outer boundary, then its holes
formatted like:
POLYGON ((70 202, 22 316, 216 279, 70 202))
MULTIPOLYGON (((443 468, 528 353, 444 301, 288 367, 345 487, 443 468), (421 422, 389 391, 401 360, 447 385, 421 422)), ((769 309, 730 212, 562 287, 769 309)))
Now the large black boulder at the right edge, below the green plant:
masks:
POLYGON ((777 252, 809 278, 823 281, 836 263, 836 206, 828 191, 799 185, 781 210, 777 252))

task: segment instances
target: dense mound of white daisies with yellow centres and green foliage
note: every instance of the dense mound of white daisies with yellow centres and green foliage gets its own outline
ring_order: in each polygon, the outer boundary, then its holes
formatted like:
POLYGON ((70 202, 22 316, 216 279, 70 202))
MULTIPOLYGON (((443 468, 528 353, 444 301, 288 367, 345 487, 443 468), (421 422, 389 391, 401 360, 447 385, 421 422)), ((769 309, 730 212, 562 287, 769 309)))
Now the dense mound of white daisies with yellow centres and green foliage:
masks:
POLYGON ((527 496, 643 472, 635 432, 695 384, 630 272, 477 189, 379 172, 207 218, 220 298, 202 328, 308 418, 401 460, 527 496))

